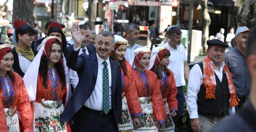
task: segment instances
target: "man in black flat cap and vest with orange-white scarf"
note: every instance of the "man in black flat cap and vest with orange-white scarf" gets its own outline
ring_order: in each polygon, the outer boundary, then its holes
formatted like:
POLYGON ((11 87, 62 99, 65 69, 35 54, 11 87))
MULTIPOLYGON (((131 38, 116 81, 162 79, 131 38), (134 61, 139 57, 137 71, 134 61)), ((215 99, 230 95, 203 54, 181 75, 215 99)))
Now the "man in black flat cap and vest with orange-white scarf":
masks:
POLYGON ((232 74, 223 62, 228 45, 218 39, 207 45, 207 56, 189 75, 186 102, 194 132, 210 131, 238 105, 232 74))

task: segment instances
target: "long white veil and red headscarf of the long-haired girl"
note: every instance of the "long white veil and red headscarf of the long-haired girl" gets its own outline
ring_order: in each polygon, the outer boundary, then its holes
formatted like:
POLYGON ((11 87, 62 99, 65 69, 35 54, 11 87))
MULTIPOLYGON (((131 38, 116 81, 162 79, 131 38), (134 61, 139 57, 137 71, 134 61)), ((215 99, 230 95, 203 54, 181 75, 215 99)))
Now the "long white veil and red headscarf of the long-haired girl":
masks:
MULTIPOLYGON (((38 78, 39 65, 40 65, 40 60, 42 58, 42 55, 47 55, 48 56, 49 48, 51 47, 52 43, 56 39, 59 40, 59 42, 61 43, 60 38, 58 38, 56 36, 49 36, 49 37, 45 38, 42 41, 42 48, 39 50, 39 52, 37 53, 34 61, 31 63, 31 65, 28 69, 29 72, 26 72, 26 74, 24 75, 23 79, 24 79, 24 83, 25 83, 26 88, 27 88, 28 93, 29 93, 30 101, 35 101, 36 100, 37 78, 38 78)), ((65 60, 65 57, 64 57, 63 53, 62 53, 62 57, 60 59, 60 63, 62 63, 63 67, 64 67, 65 80, 66 80, 66 91, 67 91, 66 99, 63 100, 63 101, 65 103, 67 103, 68 99, 71 96, 71 87, 70 87, 68 67, 66 66, 66 60, 65 60)))

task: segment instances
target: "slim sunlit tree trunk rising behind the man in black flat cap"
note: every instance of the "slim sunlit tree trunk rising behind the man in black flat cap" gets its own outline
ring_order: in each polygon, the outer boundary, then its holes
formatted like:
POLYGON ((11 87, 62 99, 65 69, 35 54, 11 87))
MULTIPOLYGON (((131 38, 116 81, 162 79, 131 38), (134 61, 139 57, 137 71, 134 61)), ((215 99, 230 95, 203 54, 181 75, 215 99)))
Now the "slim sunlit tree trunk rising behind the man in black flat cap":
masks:
POLYGON ((209 26, 211 24, 211 18, 207 9, 208 0, 198 0, 199 4, 202 6, 202 52, 205 53, 207 49, 206 41, 209 37, 209 26))

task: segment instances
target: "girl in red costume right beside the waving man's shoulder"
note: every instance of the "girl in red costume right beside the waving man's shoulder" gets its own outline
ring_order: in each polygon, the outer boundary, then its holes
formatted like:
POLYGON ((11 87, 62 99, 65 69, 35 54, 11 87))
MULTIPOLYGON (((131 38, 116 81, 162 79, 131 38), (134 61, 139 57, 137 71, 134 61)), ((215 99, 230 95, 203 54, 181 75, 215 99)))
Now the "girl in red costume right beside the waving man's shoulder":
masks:
POLYGON ((132 77, 131 65, 124 57, 128 41, 118 35, 114 35, 114 37, 115 47, 109 56, 110 59, 120 64, 122 74, 122 123, 119 132, 131 132, 133 126, 135 128, 140 126, 139 116, 143 114, 132 77))

